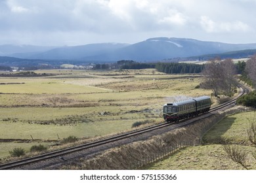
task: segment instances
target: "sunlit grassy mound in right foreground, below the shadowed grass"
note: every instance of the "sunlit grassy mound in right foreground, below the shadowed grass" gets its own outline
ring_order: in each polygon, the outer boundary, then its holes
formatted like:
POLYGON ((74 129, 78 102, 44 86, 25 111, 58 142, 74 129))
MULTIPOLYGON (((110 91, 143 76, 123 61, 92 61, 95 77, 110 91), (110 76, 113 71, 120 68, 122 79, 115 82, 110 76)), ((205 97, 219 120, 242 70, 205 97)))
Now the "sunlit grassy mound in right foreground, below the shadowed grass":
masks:
MULTIPOLYGON (((241 148, 244 148, 241 146, 241 148)), ((255 148, 247 146, 247 161, 249 169, 256 169, 255 159, 251 155, 255 148)), ((226 157, 222 145, 210 144, 205 146, 188 147, 167 159, 158 161, 148 167, 151 170, 242 170, 243 168, 226 157)))

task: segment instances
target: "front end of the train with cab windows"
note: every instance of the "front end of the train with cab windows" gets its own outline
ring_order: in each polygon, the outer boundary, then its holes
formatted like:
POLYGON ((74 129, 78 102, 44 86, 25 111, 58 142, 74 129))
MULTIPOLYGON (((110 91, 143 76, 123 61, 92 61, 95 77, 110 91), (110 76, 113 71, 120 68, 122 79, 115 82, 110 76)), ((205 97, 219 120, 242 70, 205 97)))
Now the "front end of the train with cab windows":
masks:
POLYGON ((175 122, 178 120, 177 107, 175 107, 174 103, 163 105, 163 119, 166 122, 175 122))

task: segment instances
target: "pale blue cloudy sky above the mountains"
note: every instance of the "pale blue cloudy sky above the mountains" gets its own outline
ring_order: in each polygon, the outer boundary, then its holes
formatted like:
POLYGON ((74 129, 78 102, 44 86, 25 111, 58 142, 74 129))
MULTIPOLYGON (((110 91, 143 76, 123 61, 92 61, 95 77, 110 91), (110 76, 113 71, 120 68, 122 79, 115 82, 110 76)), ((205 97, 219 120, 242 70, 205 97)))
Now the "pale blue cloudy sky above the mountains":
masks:
POLYGON ((0 0, 0 44, 256 42, 256 0, 0 0))

